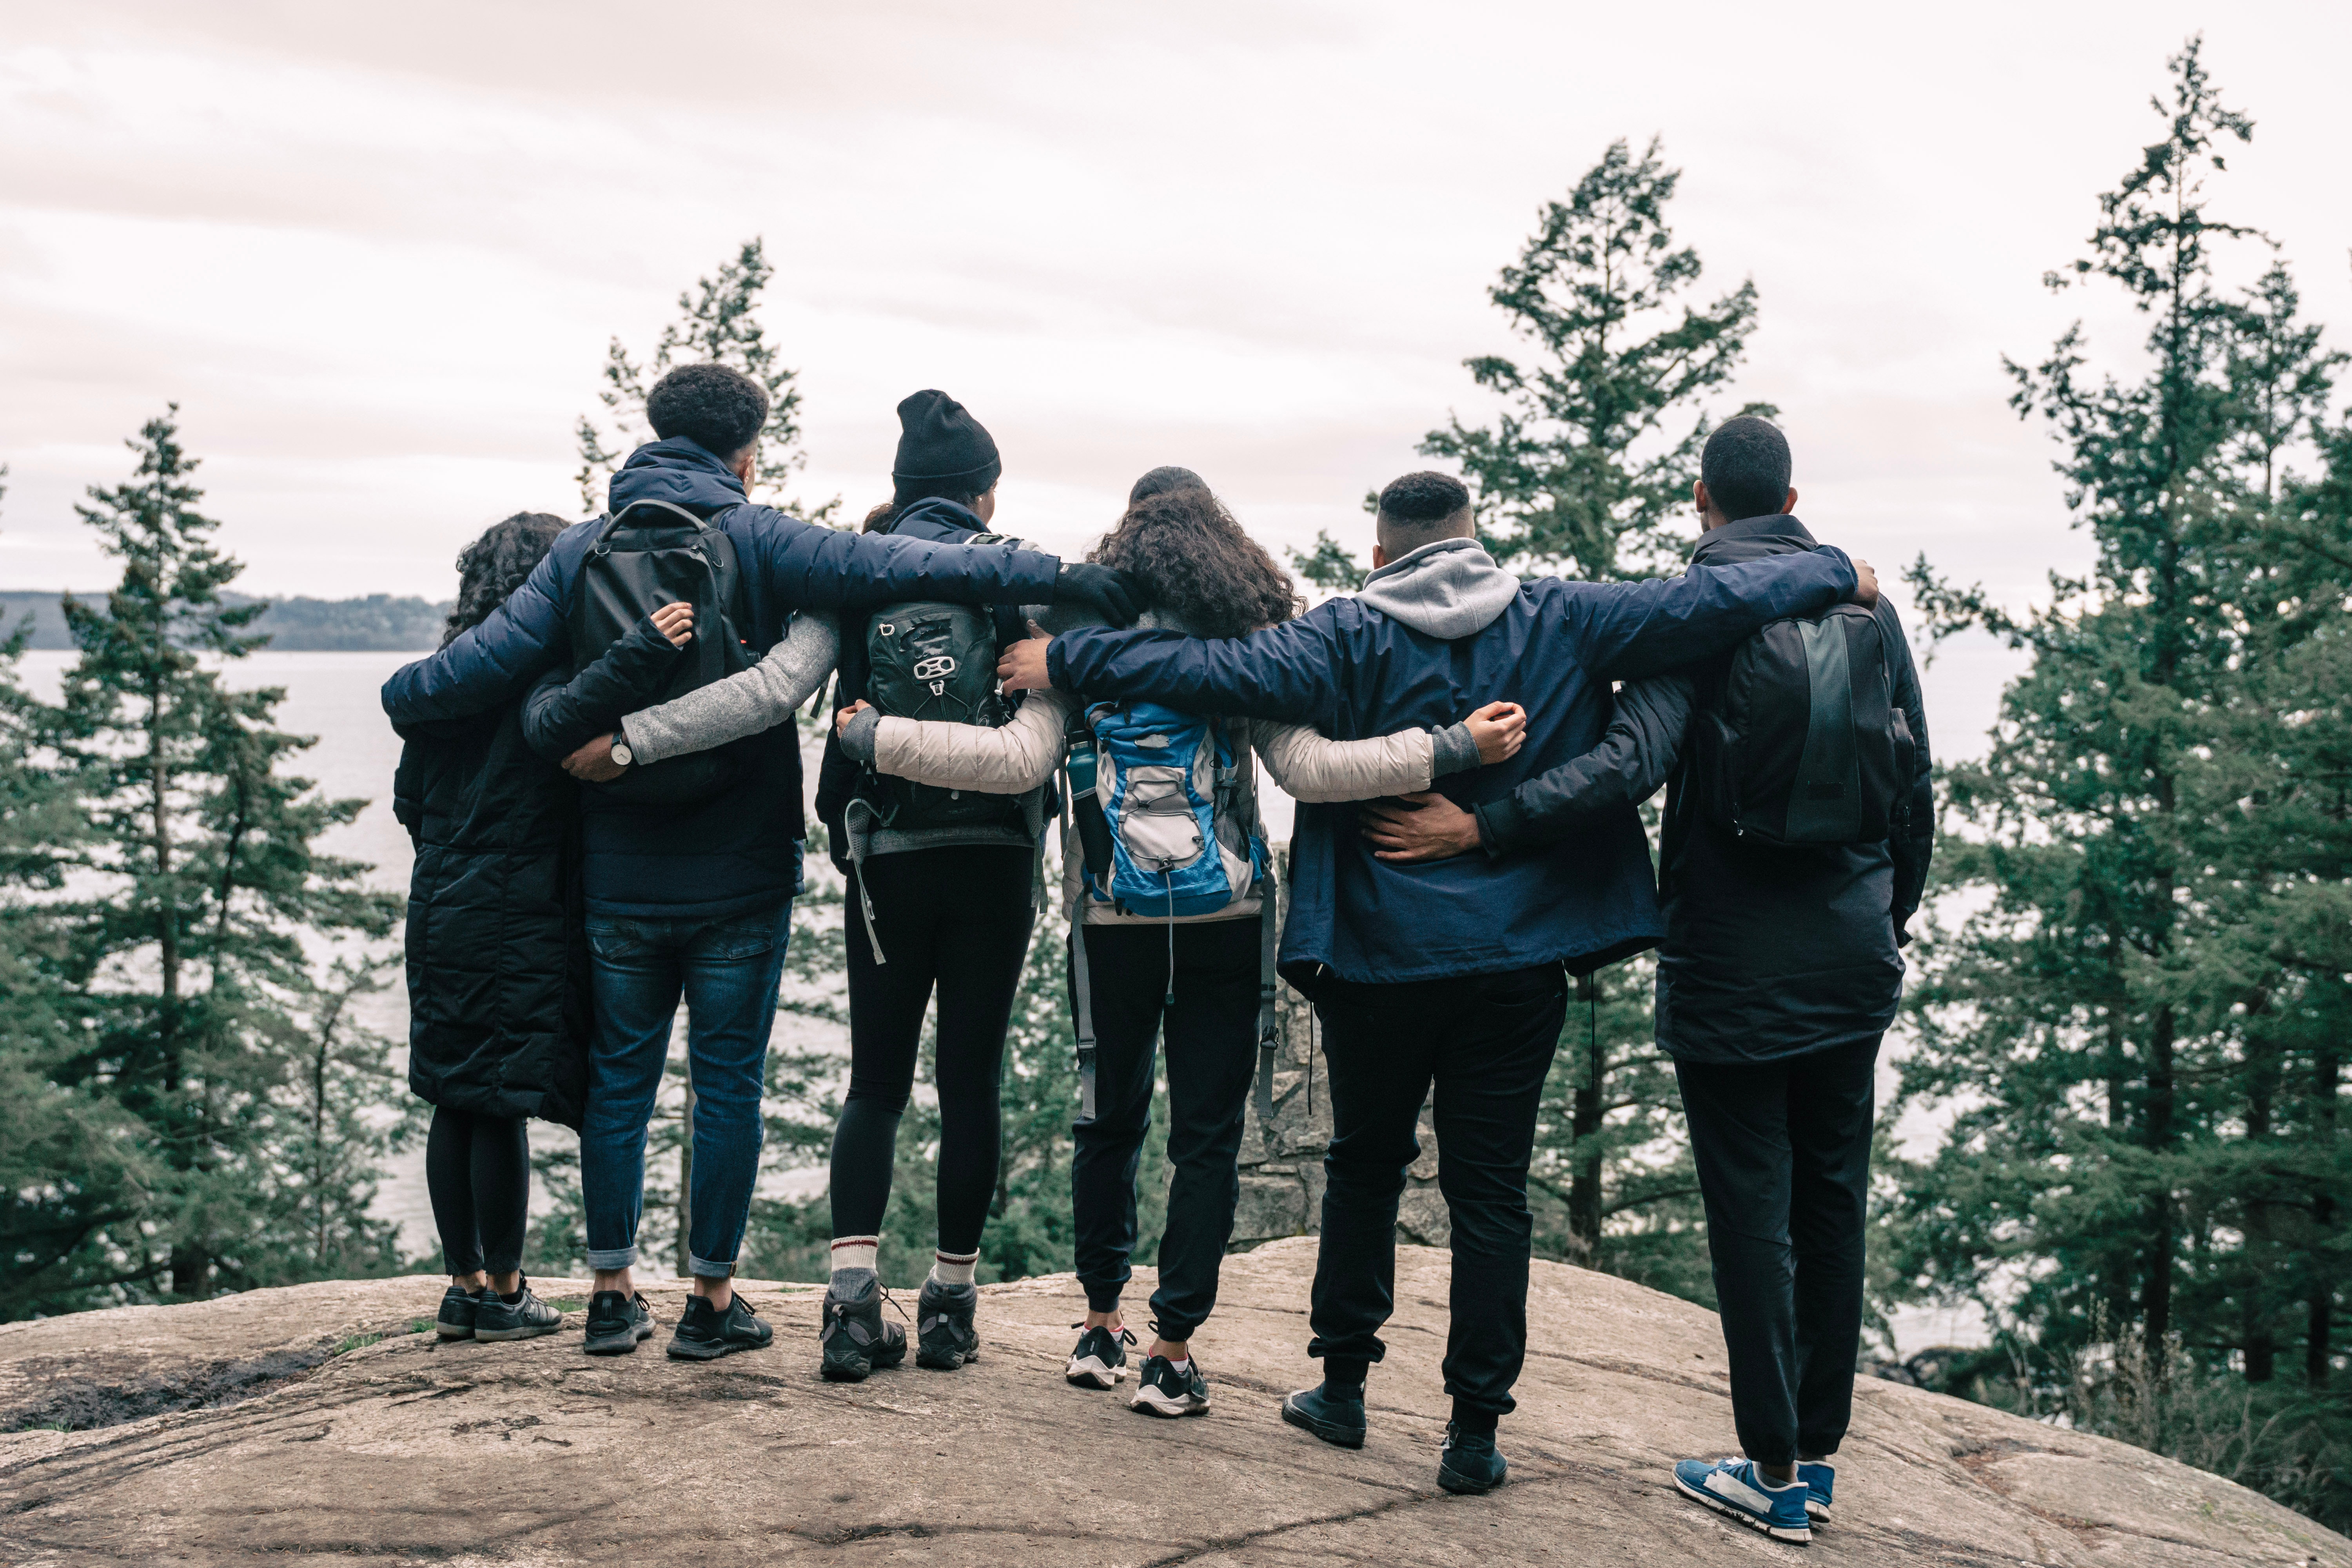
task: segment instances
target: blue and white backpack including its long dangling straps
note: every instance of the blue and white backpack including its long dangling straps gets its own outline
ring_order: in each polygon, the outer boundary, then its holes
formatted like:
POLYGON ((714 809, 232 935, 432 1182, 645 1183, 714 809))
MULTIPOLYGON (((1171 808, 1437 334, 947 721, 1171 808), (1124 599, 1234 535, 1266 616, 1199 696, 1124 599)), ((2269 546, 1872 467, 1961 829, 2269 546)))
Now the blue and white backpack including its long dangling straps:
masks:
POLYGON ((1160 703, 1096 708, 1073 719, 1063 853, 1082 853, 1070 907, 1070 987, 1077 1004, 1080 1119, 1094 1121, 1094 987, 1087 976, 1087 900, 1169 922, 1169 997, 1176 1001, 1176 922, 1258 896, 1258 1124, 1275 1114, 1275 947, 1282 914, 1258 823, 1247 731, 1160 703))

